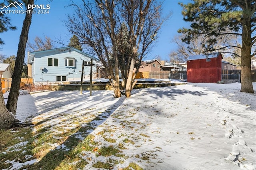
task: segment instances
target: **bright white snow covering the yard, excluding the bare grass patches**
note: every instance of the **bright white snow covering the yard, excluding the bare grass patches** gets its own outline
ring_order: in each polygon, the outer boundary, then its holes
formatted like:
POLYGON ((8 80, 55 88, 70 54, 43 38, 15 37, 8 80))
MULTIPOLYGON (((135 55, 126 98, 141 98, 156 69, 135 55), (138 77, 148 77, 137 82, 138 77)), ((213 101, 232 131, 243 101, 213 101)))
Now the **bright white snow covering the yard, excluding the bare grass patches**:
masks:
MULTIPOLYGON (((171 80, 172 81, 172 80, 171 80)), ((115 99, 113 91, 49 91, 22 95, 16 117, 50 130, 77 128, 73 118, 91 130, 98 148, 123 144, 128 158, 82 152, 84 169, 108 158, 122 160, 113 168, 135 162, 143 169, 256 169, 256 94, 240 92, 241 83, 188 83, 134 89, 115 99), (94 119, 97 117, 98 119, 94 119), (104 129, 108 138, 98 135, 104 129), (124 139, 127 138, 127 142, 124 139), (144 158, 144 159, 142 159, 144 158)), ((256 89, 256 83, 253 83, 256 89)), ((79 132, 73 134, 83 140, 79 132)), ((56 149, 65 148, 55 144, 56 149)), ((34 160, 36 162, 36 160, 34 160)), ((17 162, 12 162, 12 168, 17 162)))

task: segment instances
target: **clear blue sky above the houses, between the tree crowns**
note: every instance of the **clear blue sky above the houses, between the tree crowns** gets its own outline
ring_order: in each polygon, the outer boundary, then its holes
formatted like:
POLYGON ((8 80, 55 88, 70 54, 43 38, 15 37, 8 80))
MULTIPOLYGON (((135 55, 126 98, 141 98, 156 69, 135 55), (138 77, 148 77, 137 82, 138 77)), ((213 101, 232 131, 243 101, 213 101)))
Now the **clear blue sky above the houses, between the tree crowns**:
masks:
MULTIPOLYGON (((2 0, 1 0, 2 1, 2 0)), ((158 40, 155 44, 152 53, 146 56, 146 59, 153 59, 156 56, 160 56, 162 60, 169 61, 170 51, 176 48, 171 40, 176 36, 177 30, 182 27, 189 27, 189 23, 182 20, 181 14, 182 7, 178 5, 178 2, 188 3, 190 0, 166 0, 163 5, 163 15, 166 16, 169 12, 172 12, 172 16, 162 26, 158 33, 158 40)), ((71 34, 64 26, 63 21, 66 20, 67 14, 72 13, 71 7, 65 7, 70 4, 69 0, 53 0, 48 2, 47 0, 35 0, 35 4, 50 4, 49 14, 33 14, 32 24, 29 30, 29 41, 33 42, 36 36, 44 38, 44 36, 50 37, 52 40, 61 38, 65 43, 69 42, 71 34)), ((20 31, 22 28, 25 14, 7 14, 11 18, 11 23, 18 29, 15 31, 8 31, 0 34, 5 45, 2 45, 2 55, 9 57, 10 55, 16 55, 18 49, 18 42, 20 37, 20 31)), ((55 44, 55 47, 61 47, 62 45, 55 44)), ((86 50, 84 50, 86 52, 86 50)), ((25 58, 26 61, 26 58, 25 58)))

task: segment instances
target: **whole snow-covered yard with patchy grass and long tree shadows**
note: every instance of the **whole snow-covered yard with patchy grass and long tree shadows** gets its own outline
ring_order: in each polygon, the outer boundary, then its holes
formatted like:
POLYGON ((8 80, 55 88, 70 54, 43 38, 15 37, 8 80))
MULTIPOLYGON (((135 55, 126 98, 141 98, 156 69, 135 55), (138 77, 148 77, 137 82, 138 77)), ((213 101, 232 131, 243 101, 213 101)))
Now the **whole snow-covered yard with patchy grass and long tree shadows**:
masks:
POLYGON ((256 94, 240 86, 21 95, 16 117, 34 126, 9 131, 0 169, 256 170, 256 94))

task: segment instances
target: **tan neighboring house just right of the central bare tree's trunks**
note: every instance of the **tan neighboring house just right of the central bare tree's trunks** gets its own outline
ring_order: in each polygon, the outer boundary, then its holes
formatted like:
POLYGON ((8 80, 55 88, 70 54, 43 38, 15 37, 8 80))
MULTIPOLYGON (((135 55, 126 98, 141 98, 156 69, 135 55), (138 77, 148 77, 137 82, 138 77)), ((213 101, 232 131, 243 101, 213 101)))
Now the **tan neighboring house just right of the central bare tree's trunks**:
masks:
POLYGON ((161 65, 161 63, 157 59, 141 61, 141 66, 139 68, 139 72, 161 71, 160 65, 161 65))

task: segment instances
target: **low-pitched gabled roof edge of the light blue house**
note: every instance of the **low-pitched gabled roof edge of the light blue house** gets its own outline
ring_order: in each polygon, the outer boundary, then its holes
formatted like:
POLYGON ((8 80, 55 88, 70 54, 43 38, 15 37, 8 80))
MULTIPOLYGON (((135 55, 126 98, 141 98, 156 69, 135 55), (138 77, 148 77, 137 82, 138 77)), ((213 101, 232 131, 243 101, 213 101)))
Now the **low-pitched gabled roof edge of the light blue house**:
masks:
MULTIPOLYGON (((47 50, 42 50, 42 51, 33 51, 33 52, 30 52, 29 53, 29 56, 28 56, 28 61, 29 59, 33 59, 34 58, 34 55, 36 53, 44 53, 44 52, 49 52, 49 51, 60 51, 60 52, 63 52, 63 51, 66 51, 68 49, 73 49, 74 51, 82 54, 82 55, 85 55, 86 57, 89 57, 91 59, 94 59, 96 61, 99 61, 99 59, 97 59, 96 57, 93 57, 92 55, 89 55, 87 53, 84 53, 83 51, 80 51, 79 49, 76 49, 74 47, 60 47, 60 48, 54 48, 54 49, 47 49, 47 50)), ((28 62, 29 63, 29 62, 28 62)))

